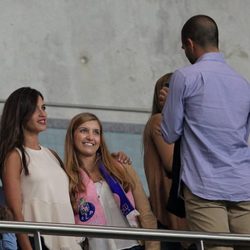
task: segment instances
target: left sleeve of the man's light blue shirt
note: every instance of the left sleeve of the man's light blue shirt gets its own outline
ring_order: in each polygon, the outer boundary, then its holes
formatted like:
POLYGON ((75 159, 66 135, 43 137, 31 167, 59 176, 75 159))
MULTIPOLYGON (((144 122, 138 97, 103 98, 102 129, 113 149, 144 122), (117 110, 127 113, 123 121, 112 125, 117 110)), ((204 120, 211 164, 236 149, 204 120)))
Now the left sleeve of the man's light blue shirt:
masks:
POLYGON ((175 71, 170 81, 167 101, 162 110, 161 132, 167 143, 173 143, 182 135, 184 119, 185 78, 175 71))

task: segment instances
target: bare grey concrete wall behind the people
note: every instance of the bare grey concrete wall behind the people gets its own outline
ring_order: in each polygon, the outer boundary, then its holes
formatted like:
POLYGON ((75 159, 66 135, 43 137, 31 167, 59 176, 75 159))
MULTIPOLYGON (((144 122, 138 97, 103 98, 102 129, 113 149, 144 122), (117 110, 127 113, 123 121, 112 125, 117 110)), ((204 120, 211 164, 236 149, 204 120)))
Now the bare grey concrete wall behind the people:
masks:
MULTIPOLYGON (((249 0, 0 1, 0 99, 39 89, 47 102, 150 110, 155 81, 188 63, 180 29, 192 15, 218 23, 228 62, 250 79, 249 0)), ((50 108, 51 118, 80 109, 50 108)), ((144 124, 147 112, 94 111, 144 124)))

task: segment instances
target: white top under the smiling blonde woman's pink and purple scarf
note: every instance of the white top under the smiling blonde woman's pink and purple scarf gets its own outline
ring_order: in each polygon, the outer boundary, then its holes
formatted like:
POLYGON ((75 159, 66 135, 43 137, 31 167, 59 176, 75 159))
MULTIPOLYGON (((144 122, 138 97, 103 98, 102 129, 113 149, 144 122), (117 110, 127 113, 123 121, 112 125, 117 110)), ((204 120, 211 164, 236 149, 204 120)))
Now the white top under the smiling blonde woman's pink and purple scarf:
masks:
MULTIPOLYGON (((108 226, 130 227, 114 200, 106 181, 95 183, 98 198, 104 208, 108 226)), ((120 250, 139 245, 136 240, 89 238, 89 250, 120 250)))

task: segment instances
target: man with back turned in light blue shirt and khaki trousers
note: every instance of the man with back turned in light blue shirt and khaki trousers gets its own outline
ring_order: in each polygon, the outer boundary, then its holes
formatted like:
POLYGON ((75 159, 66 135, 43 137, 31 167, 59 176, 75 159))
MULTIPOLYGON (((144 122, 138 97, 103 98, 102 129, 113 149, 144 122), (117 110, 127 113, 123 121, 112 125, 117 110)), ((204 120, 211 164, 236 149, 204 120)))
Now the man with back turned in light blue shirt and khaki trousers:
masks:
MULTIPOLYGON (((193 231, 250 233, 250 85, 226 64, 218 27, 205 15, 181 31, 191 65, 174 72, 161 124, 181 137, 181 191, 193 231)), ((206 249, 249 249, 206 245, 206 249)))

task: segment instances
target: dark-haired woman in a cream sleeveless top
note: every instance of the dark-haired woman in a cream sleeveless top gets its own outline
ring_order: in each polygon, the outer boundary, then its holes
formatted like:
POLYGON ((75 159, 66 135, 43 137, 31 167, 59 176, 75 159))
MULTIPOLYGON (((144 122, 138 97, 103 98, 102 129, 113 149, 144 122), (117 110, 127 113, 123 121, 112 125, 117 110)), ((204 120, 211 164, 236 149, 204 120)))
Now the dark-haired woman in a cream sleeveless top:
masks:
MULTIPOLYGON (((23 87, 8 97, 0 127, 5 199, 16 221, 74 224, 68 177, 55 155, 39 143, 38 135, 46 125, 46 106, 39 91, 23 87)), ((74 237, 43 237, 43 249, 81 249, 74 237)), ((21 249, 32 249, 26 234, 17 238, 21 249)))

